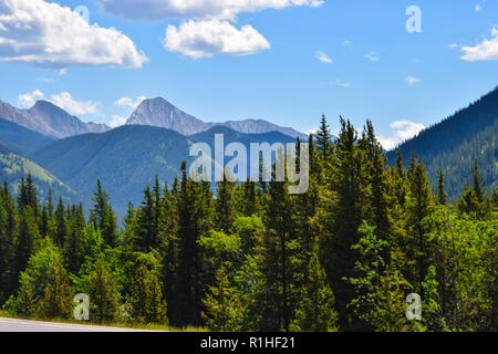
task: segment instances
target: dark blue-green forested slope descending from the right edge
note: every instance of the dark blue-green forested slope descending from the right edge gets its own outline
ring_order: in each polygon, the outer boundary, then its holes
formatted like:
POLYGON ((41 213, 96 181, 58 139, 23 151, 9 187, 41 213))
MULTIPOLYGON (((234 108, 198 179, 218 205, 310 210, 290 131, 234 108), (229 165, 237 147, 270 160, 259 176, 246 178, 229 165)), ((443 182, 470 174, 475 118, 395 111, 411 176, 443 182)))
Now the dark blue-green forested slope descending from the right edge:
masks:
MULTIPOLYGON (((485 188, 491 191, 498 185, 497 136, 498 87, 403 143, 400 149, 405 163, 412 150, 422 158, 434 186, 437 184, 437 171, 442 169, 446 175, 448 196, 454 200, 465 189, 467 180, 471 180, 476 158, 485 188)), ((394 164, 396 150, 387 153, 387 157, 394 164)))

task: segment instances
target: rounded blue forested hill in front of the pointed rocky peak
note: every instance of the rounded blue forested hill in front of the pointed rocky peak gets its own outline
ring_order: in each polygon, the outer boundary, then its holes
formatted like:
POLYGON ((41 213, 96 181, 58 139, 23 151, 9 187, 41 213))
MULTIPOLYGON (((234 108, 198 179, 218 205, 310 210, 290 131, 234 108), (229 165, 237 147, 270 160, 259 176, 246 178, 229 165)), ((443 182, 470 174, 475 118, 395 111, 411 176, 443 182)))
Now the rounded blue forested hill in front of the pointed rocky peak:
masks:
POLYGON ((121 216, 128 201, 139 204, 144 186, 152 184, 155 175, 168 183, 179 176, 181 162, 193 160, 188 156, 193 143, 212 147, 215 134, 224 134, 225 144, 240 142, 247 147, 256 142, 293 140, 277 132, 242 134, 222 126, 186 137, 170 129, 127 125, 54 142, 31 158, 86 198, 92 197, 100 178, 121 216))

